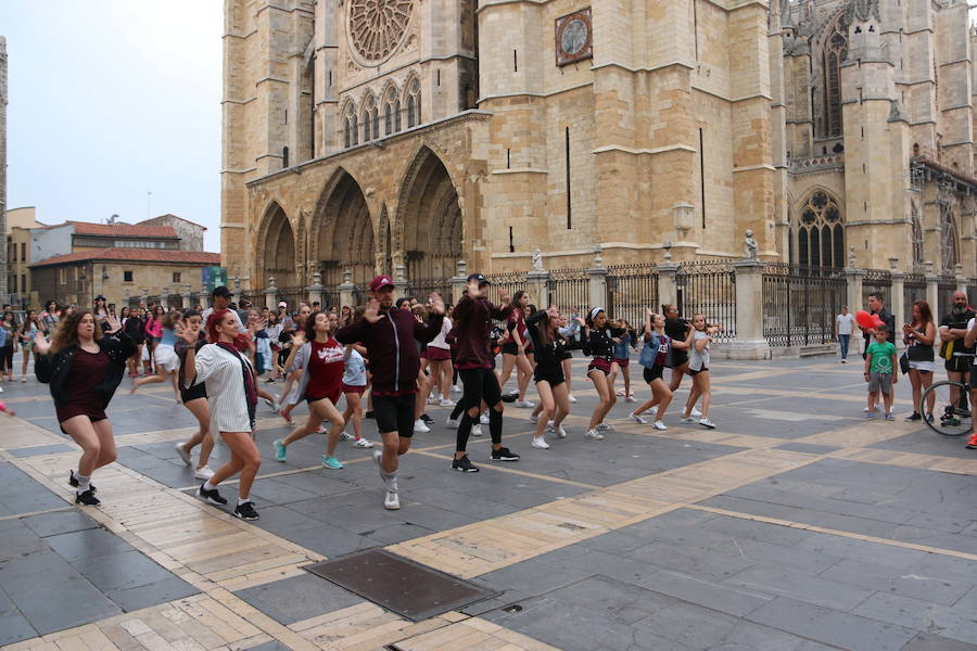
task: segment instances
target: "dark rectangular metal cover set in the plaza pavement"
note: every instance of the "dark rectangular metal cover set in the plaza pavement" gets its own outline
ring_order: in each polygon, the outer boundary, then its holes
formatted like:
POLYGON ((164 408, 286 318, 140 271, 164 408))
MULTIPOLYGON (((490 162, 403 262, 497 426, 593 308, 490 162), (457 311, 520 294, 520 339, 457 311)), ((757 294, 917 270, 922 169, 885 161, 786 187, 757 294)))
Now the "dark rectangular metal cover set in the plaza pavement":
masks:
POLYGON ((498 596, 383 549, 368 549, 304 569, 414 622, 498 596))

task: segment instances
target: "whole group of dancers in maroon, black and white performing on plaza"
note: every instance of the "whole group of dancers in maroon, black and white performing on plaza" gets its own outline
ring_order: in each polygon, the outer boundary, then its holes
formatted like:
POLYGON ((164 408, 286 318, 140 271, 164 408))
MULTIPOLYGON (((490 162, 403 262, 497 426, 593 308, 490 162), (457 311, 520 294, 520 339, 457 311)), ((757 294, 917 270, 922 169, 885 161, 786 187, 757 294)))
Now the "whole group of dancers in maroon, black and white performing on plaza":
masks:
MULTIPOLYGON (((518 370, 516 405, 535 408, 531 416, 535 423, 532 447, 549 448, 547 434, 566 438, 569 432, 564 419, 575 401, 570 394, 570 360, 575 348, 591 357, 586 378, 598 397, 583 434, 586 439, 604 441, 613 432, 606 418, 617 403, 614 378, 626 372, 627 347, 637 348, 638 344, 638 363, 651 396, 627 416, 647 423, 643 414, 649 413, 651 425, 665 430, 663 418, 673 393, 682 376, 689 374, 693 386, 682 421, 715 426, 708 416, 709 349, 718 327, 707 324, 703 315, 684 321, 675 306, 663 306, 663 314, 648 309, 640 332, 635 332, 624 321, 609 321, 600 306, 585 317, 563 315, 557 306, 532 309, 524 293, 510 298, 502 290, 495 304, 488 299, 488 280, 472 273, 454 307, 446 306, 437 294, 431 294, 427 304, 395 304, 392 279, 378 276, 370 283, 367 304, 355 310, 337 315, 303 304, 289 341, 282 342, 288 353, 279 359, 287 379, 280 404, 279 396, 261 385, 261 371, 266 367, 257 333, 266 329, 267 321, 254 310, 242 317, 229 309, 230 292, 217 288, 212 293, 213 307, 202 312, 191 309, 160 315, 158 340, 153 342, 154 372, 134 380, 131 391, 151 382, 173 383, 177 400, 199 423, 192 437, 176 444, 188 464, 193 448, 201 448, 194 469, 194 476, 202 481, 196 496, 213 505, 226 505, 228 500, 218 486, 238 475, 233 514, 243 520, 258 519, 250 492, 261 467, 254 438, 261 397, 289 421, 295 404, 305 400, 308 405, 307 420, 274 442, 278 461, 287 460, 291 444, 318 431, 327 435, 323 468, 340 470, 343 464, 337 447, 341 439, 373 447, 360 433, 364 394, 368 391, 381 439, 373 460, 384 484, 386 509, 399 509, 399 457, 409 450, 416 432, 427 431, 420 417, 426 416, 429 401, 454 407, 447 421, 457 427, 453 470, 479 471, 468 457, 467 446, 472 434, 481 434, 482 424, 488 426, 492 438, 490 460, 520 459, 503 445, 502 387, 513 369, 518 370), (493 334, 495 322, 506 324, 497 340, 493 334), (496 370, 499 348, 503 365, 496 370), (665 368, 672 369, 670 384, 663 378, 665 368), (448 397, 455 374, 462 385, 457 404, 448 397), (537 405, 526 400, 530 379, 540 396, 537 405), (297 388, 290 395, 293 383, 297 388), (429 399, 432 393, 434 397, 429 399), (345 411, 339 410, 341 397, 345 397, 345 411), (351 423, 355 437, 345 432, 351 423), (212 429, 230 451, 230 458, 216 470, 208 467, 215 441, 212 429)), ((62 431, 83 449, 77 470, 72 469, 68 476, 76 489, 76 503, 99 503, 92 473, 116 458, 105 409, 137 355, 138 343, 127 330, 132 332, 97 306, 94 310, 63 315, 50 339, 40 330, 35 333, 37 378, 50 385, 62 431)), ((131 366, 129 369, 131 375, 131 366)), ((630 383, 623 396, 636 401, 630 383)))

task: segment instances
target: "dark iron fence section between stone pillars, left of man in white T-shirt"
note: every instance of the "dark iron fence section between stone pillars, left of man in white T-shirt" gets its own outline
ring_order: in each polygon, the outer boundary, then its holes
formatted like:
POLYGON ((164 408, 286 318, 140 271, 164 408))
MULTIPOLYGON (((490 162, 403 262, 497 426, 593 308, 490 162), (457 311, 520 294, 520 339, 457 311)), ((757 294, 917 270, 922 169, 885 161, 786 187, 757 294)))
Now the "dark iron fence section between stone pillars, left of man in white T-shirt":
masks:
POLYGON ((767 263, 763 268, 763 337, 771 346, 826 344, 848 283, 840 269, 767 263))

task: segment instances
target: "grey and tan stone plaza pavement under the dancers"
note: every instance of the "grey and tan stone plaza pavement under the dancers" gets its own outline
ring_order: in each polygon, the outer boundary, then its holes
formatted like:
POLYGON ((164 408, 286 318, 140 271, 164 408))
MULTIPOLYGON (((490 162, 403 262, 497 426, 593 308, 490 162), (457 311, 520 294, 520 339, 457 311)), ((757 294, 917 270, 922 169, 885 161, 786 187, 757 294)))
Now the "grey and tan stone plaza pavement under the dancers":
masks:
MULTIPOLYGON (((382 508, 369 450, 341 443, 345 468, 326 470, 313 436, 277 463, 288 427, 261 407, 254 523, 192 497, 174 443, 193 420, 168 387, 130 396, 124 382, 110 408, 118 462, 97 473, 93 509, 68 502, 78 451, 47 387, 4 382, 18 418, 0 417, 0 644, 977 649, 977 452, 902 420, 909 382, 897 422, 868 421, 860 363, 720 360, 716 430, 681 424, 674 404, 658 432, 620 401, 598 443, 583 438, 595 397, 575 363, 581 401, 549 450, 530 447, 529 410, 507 405, 518 463, 488 461, 483 436, 469 446, 482 471, 452 472, 454 431, 431 408, 402 462, 399 511, 382 508), (303 569, 370 548, 495 596, 413 622, 303 569)), ((376 439, 375 421, 365 432, 376 439)))

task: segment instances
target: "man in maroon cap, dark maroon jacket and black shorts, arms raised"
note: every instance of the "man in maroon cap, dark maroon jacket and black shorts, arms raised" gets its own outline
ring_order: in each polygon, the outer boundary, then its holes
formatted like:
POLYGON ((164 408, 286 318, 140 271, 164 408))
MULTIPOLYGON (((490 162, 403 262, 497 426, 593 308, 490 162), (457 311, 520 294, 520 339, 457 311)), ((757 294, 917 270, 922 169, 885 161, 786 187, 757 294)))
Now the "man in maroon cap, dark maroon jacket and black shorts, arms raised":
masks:
POLYGON ((373 412, 383 438, 383 451, 373 452, 380 476, 386 484, 383 506, 399 509, 397 496, 398 457, 410 448, 420 358, 414 340, 428 343, 441 332, 444 301, 431 294, 431 318, 420 323, 410 309, 393 304, 393 281, 378 276, 370 282, 370 299, 363 318, 335 333, 342 344, 366 346, 373 375, 373 412))

